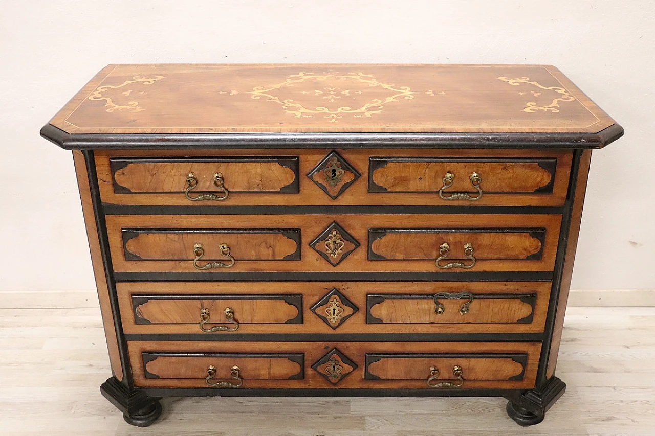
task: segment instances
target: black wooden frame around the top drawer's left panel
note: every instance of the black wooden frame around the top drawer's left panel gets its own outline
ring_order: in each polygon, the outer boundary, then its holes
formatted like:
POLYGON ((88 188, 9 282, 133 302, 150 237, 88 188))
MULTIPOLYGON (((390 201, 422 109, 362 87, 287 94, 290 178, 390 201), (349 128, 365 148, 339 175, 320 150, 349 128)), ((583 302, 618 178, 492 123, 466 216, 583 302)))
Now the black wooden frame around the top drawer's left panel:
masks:
MULTIPOLYGON (((280 164, 284 168, 289 168, 293 171, 293 181, 288 185, 282 187, 279 191, 230 191, 234 194, 297 194, 300 192, 299 182, 299 158, 296 156, 168 156, 168 157, 110 157, 109 168, 111 170, 111 180, 114 187, 114 192, 117 194, 183 194, 184 191, 170 191, 170 192, 132 192, 129 188, 120 185, 115 178, 115 173, 122 170, 129 164, 166 164, 172 162, 185 162, 185 163, 233 163, 233 162, 273 162, 280 164)), ((194 191, 195 192, 195 191, 194 191)), ((204 192, 204 191, 198 191, 204 192)), ((207 191, 210 192, 210 191, 207 191)))

